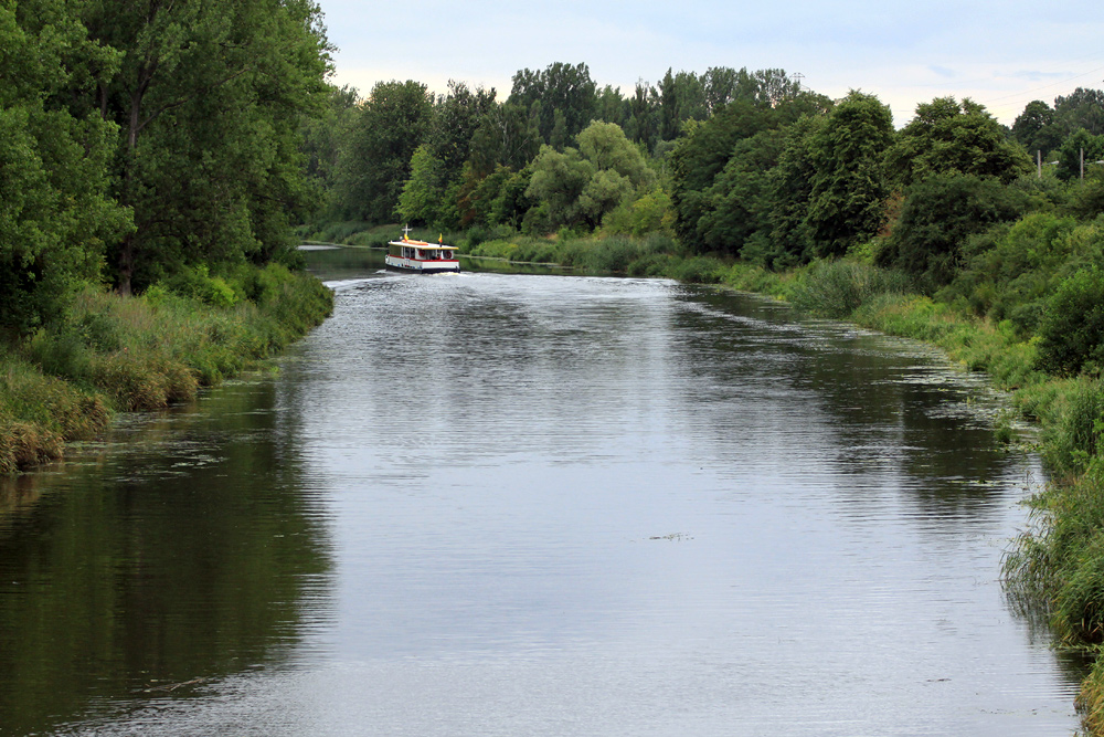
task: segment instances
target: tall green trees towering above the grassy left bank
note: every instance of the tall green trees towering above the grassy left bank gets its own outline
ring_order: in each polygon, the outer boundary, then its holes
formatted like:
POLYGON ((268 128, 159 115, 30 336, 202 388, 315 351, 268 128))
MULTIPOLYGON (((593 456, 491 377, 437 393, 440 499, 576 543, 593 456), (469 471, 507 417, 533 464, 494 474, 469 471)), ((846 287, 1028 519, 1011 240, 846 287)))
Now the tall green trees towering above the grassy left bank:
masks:
POLYGON ((2 0, 0 330, 79 284, 293 259, 329 69, 311 0, 2 0))

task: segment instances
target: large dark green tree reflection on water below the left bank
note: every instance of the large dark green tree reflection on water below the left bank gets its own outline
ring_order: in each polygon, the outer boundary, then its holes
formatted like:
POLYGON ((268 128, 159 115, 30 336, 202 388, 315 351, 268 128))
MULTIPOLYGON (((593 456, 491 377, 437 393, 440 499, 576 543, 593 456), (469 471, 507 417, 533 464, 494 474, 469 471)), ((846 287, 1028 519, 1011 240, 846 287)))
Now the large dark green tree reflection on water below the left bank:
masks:
POLYGON ((0 526, 4 734, 270 663, 301 636, 330 561, 272 393, 223 388, 121 433, 0 526))

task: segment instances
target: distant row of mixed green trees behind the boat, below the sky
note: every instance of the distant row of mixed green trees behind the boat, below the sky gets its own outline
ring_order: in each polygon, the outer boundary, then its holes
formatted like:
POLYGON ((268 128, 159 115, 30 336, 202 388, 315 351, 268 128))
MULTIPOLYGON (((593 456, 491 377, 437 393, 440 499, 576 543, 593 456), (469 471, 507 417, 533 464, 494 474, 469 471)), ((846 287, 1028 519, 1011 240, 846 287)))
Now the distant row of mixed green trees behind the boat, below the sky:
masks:
POLYGON ((1080 178, 1082 157, 1104 158, 1104 93, 1032 102, 1011 128, 937 97, 895 129, 877 96, 832 101, 782 70, 668 70, 624 95, 585 64, 554 63, 514 74, 505 101, 459 82, 442 95, 414 81, 364 98, 332 88, 305 146, 322 219, 666 230, 769 269, 882 234, 879 263, 932 289, 953 278, 965 238, 1023 214, 1040 181, 1080 178))

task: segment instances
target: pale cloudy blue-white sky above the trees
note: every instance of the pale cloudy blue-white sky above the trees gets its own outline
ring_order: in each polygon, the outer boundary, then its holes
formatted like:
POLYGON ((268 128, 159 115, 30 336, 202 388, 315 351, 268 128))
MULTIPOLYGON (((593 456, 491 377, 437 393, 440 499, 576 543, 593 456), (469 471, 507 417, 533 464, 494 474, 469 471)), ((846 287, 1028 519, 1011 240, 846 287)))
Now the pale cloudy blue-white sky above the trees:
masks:
POLYGON ((338 85, 367 96, 376 82, 448 80, 510 94, 521 69, 585 63, 598 87, 626 96, 668 67, 782 69, 839 98, 877 95, 896 126, 947 95, 984 104, 1011 125, 1032 99, 1104 88, 1104 7, 1023 2, 768 0, 319 0, 338 85))

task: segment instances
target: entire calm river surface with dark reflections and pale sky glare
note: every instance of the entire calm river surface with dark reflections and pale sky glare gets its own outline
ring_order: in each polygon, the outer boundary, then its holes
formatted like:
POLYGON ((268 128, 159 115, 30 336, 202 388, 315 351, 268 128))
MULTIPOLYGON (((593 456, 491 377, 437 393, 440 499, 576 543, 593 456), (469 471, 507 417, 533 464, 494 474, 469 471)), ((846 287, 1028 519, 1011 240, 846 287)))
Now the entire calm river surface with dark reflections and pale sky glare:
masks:
POLYGON ((0 495, 0 733, 1076 727, 981 382, 668 282, 312 259, 278 373, 0 495))

